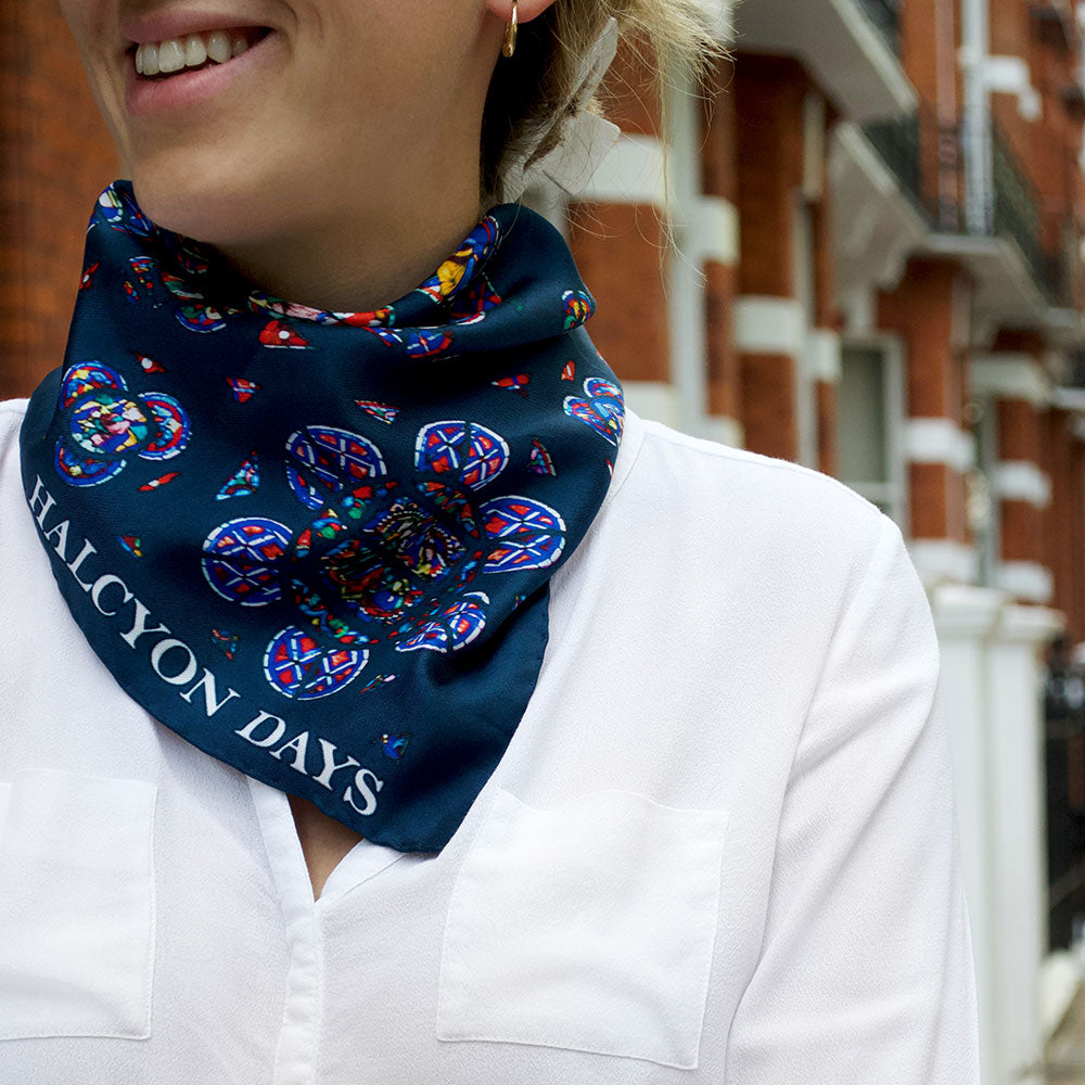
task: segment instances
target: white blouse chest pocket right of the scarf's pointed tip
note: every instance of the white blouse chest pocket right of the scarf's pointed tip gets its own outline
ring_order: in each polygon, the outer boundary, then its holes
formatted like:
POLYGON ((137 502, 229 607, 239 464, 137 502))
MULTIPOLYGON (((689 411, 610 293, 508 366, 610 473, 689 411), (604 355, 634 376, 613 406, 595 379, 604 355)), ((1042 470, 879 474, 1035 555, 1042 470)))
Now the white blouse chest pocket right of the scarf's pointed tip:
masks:
POLYGON ((728 816, 623 791, 506 791, 457 876, 437 1036, 698 1061, 728 816))

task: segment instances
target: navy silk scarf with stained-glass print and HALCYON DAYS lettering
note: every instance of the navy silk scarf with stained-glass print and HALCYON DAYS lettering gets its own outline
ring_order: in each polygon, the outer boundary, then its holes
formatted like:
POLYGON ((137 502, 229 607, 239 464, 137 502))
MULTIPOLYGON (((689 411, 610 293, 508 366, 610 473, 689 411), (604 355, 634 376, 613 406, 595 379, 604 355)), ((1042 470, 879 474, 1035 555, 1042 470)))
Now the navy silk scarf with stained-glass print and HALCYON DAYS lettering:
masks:
POLYGON ((335 312, 116 181, 84 267, 21 432, 73 618, 200 750, 439 852, 524 714, 622 435, 561 234, 500 204, 417 289, 335 312))

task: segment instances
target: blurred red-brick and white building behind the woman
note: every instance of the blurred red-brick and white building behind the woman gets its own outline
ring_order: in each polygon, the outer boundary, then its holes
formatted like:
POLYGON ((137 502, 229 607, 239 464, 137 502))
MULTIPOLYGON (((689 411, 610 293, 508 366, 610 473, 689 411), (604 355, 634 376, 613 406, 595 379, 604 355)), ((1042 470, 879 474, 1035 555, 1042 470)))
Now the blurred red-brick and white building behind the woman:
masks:
MULTIPOLYGON (((635 410, 901 525, 943 647, 984 1082, 1041 1083, 1085 959, 1085 4, 704 2, 732 62, 661 103, 620 50, 621 140, 587 191, 526 202, 635 410)), ((59 12, 5 7, 0 397, 60 365, 119 171, 59 12)))

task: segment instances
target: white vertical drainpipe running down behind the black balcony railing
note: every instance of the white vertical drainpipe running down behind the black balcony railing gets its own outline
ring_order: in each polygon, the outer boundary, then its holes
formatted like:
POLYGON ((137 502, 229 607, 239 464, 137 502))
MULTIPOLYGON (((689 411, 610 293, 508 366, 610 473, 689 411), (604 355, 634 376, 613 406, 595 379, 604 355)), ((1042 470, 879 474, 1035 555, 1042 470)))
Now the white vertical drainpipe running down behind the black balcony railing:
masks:
POLYGON ((960 65, 963 72, 965 227, 969 233, 994 229, 991 165, 991 104, 984 86, 987 59, 987 0, 961 0, 960 65))

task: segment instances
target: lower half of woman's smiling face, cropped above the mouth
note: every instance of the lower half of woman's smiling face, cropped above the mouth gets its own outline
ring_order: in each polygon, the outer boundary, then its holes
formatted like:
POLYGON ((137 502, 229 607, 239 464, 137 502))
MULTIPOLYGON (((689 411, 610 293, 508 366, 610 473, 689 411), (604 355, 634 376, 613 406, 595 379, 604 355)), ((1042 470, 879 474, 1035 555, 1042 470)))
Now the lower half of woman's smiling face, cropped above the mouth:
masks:
MULTIPOLYGON (((548 2, 521 3, 521 20, 548 2)), ((511 0, 61 7, 125 173, 163 226, 244 245, 269 230, 305 235, 336 215, 395 215, 449 186, 477 190, 483 104, 511 0), (257 28, 270 33, 256 40, 257 28), (231 52, 238 37, 253 43, 205 71, 137 73, 137 42, 183 48, 188 34, 213 29, 231 52)), ((159 52, 176 63, 174 47, 159 52)))

